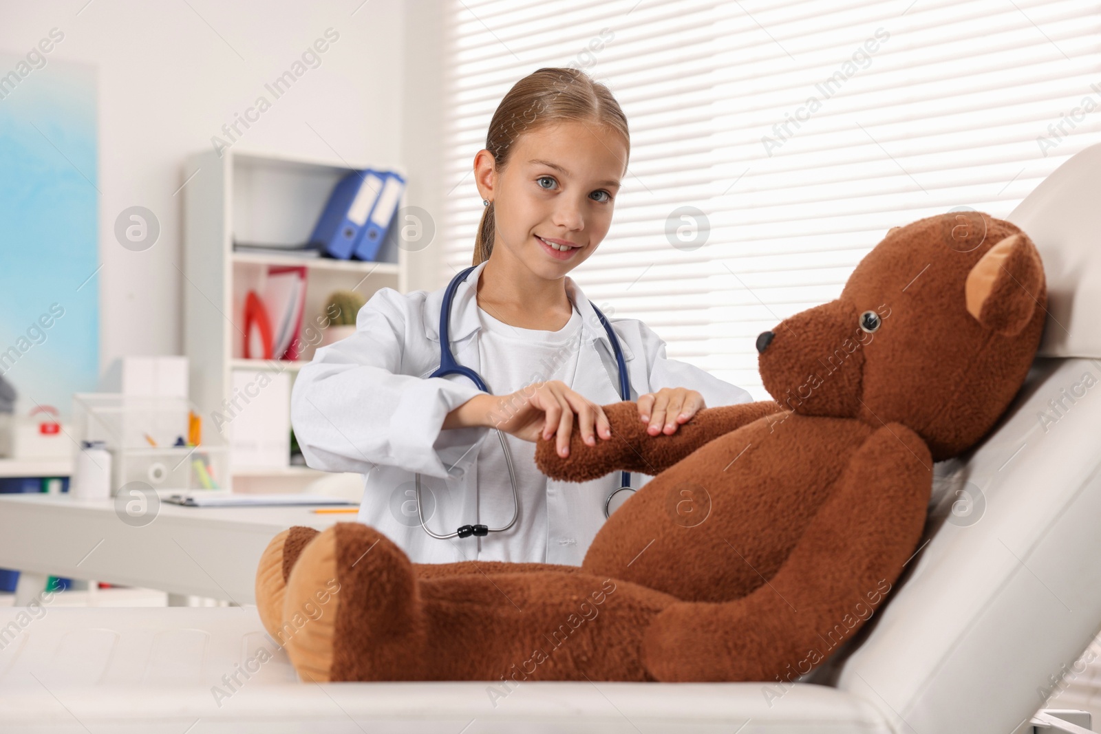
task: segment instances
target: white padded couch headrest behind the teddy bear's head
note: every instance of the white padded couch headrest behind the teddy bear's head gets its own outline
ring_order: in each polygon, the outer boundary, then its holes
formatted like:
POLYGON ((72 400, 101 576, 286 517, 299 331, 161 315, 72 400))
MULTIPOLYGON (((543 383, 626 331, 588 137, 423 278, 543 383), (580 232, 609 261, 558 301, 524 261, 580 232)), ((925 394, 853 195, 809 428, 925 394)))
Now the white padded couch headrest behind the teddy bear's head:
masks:
POLYGON ((1101 358, 1101 144, 1071 156, 1006 219, 1036 243, 1047 277, 1042 357, 1101 358))

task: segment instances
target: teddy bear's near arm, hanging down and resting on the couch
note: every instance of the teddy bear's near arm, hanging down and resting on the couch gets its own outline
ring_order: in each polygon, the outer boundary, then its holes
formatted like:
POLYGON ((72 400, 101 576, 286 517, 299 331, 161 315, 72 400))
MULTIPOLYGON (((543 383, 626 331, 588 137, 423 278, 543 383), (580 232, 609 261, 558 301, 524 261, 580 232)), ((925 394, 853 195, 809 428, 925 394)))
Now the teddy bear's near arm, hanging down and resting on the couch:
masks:
POLYGON ((857 451, 776 574, 726 603, 680 602, 646 633, 663 681, 792 680, 825 661, 883 602, 912 557, 933 483, 925 442, 887 424, 857 451))

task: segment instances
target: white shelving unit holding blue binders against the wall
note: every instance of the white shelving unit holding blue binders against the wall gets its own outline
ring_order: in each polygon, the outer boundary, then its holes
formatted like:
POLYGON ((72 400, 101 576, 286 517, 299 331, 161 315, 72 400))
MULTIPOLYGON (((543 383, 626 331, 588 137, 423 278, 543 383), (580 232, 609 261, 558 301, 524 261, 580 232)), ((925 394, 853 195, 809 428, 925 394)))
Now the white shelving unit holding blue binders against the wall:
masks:
MULTIPOLYGON (((315 325, 328 295, 355 289, 366 298, 382 287, 407 289, 407 253, 397 247, 396 227, 378 262, 304 259, 293 254, 235 252, 233 242, 291 244, 308 240, 329 193, 362 162, 307 161, 232 149, 190 156, 184 177, 184 333, 190 360, 190 397, 203 412, 203 430, 217 430, 215 412, 232 397, 232 373, 285 372, 292 381, 313 358, 307 343, 298 362, 244 358, 243 304, 261 286, 269 266, 306 267, 303 339, 315 325)), ((400 169, 399 169, 400 172, 400 169)), ((404 200, 400 206, 404 206, 404 200)), ((290 429, 290 427, 288 427, 290 429)), ((321 472, 304 467, 231 469, 236 492, 296 491, 321 472)))

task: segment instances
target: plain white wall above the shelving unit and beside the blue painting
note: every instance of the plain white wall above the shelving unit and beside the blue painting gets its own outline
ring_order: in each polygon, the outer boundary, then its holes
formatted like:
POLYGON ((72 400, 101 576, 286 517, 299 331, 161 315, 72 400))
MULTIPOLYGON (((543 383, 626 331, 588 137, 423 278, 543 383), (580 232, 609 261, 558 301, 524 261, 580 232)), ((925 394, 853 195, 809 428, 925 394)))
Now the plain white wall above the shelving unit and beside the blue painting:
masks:
MULTIPOLYGON (((405 19, 408 10, 411 22, 438 26, 436 0, 410 8, 401 0, 85 3, 3 0, 0 51, 25 54, 58 28, 65 39, 47 59, 98 68, 102 366, 121 354, 183 353, 182 289, 192 287, 181 274, 183 197, 175 191, 190 173, 183 161, 210 146, 222 124, 265 94, 264 84, 287 70, 326 29, 339 39, 319 55, 320 65, 244 130, 235 150, 401 165, 413 178, 411 204, 430 188, 417 178, 426 149, 402 135, 406 114, 421 116, 411 130, 428 129, 424 112, 432 100, 402 89, 408 59, 414 79, 436 75, 434 31, 407 29, 405 19), (151 209, 161 223, 159 241, 144 252, 123 249, 113 234, 118 213, 134 205, 151 209)), ((419 256, 430 260, 435 249, 419 256)), ((421 287, 416 283, 414 277, 413 287, 421 287)))

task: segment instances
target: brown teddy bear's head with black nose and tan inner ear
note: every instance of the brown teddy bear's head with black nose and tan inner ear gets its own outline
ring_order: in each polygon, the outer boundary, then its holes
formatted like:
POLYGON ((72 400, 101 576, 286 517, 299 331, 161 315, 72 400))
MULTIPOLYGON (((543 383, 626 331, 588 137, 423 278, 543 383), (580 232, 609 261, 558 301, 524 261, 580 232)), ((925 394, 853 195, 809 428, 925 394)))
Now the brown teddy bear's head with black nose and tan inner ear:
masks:
POLYGON ((940 461, 974 445, 1024 382, 1047 315, 1044 266, 1011 222, 952 211, 892 228, 836 300, 757 337, 784 408, 901 423, 940 461))

